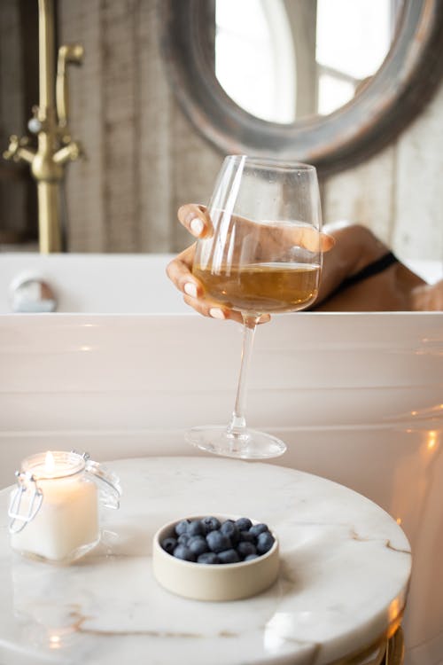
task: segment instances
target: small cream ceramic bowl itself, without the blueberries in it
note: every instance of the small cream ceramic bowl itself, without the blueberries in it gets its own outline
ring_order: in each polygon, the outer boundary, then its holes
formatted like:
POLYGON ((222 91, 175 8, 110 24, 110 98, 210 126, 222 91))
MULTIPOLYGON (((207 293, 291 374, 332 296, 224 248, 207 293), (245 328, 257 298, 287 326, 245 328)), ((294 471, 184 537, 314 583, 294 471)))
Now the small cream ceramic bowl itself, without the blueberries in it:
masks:
MULTIPOLYGON (((201 520, 202 517, 183 517, 182 520, 201 520)), ((231 515, 214 517, 237 520, 231 515)), ((279 567, 277 539, 268 552, 250 561, 211 565, 183 561, 165 552, 160 544, 164 538, 174 535, 175 524, 179 521, 165 524, 153 538, 153 574, 167 591, 196 600, 237 600, 255 596, 276 581, 279 567)), ((273 536, 276 538, 275 534, 273 536)))

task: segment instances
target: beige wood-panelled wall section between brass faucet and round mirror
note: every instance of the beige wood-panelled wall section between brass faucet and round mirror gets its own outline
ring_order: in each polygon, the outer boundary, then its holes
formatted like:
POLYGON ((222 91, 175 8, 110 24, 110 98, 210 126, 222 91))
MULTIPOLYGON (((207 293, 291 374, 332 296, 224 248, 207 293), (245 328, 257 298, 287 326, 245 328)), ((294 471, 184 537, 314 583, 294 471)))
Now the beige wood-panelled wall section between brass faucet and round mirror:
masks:
POLYGON ((72 128, 88 155, 66 184, 71 251, 166 252, 188 243, 176 222, 205 201, 221 155, 190 128, 159 56, 155 0, 60 2, 60 38, 81 41, 72 128))

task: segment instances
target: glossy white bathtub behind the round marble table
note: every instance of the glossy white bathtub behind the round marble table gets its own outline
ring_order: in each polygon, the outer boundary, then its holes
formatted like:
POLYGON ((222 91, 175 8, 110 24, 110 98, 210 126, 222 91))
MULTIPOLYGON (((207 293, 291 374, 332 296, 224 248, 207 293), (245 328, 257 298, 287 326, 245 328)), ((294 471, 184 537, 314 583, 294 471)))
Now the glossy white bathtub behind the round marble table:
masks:
MULTIPOLYGON (((165 255, 23 256, 0 257, 4 291, 40 271, 62 311, 82 313, 0 314, 0 487, 40 450, 198 454, 183 430, 229 418, 240 327, 190 313, 165 255)), ((443 314, 275 317, 257 332, 248 395, 250 424, 288 443, 275 464, 401 520, 414 554, 405 663, 442 663, 443 314)))

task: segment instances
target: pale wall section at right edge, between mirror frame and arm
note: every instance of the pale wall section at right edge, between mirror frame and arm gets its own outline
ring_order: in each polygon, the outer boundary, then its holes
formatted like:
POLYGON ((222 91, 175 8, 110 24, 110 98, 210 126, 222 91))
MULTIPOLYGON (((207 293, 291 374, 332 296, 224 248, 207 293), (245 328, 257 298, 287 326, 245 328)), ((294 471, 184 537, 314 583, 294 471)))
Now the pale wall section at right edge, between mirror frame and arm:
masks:
POLYGON ((365 223, 404 259, 443 262, 443 85, 395 143, 330 178, 323 207, 326 222, 365 223))

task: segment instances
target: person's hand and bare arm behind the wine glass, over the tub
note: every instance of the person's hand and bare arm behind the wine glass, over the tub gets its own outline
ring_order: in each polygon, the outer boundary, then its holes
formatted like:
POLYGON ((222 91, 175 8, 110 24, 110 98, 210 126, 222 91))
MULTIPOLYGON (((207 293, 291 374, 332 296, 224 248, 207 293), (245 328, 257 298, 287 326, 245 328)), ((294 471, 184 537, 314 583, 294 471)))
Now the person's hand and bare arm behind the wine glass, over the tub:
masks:
MULTIPOLYGON (((179 221, 195 237, 210 232, 206 208, 193 204, 178 211, 179 221)), ((443 280, 428 285, 393 257, 367 227, 353 223, 328 224, 323 229, 323 274, 315 311, 436 311, 443 310, 443 280), (330 251, 332 249, 332 251, 330 251), (370 270, 371 267, 377 270, 370 270), (368 274, 369 273, 369 274, 368 274), (353 279, 356 281, 353 282, 353 279)), ((204 316, 241 321, 239 312, 206 301, 204 289, 192 275, 195 244, 169 263, 168 277, 183 292, 184 301, 204 316)), ((268 321, 261 317, 260 322, 268 321)))

